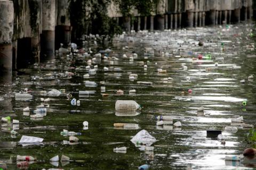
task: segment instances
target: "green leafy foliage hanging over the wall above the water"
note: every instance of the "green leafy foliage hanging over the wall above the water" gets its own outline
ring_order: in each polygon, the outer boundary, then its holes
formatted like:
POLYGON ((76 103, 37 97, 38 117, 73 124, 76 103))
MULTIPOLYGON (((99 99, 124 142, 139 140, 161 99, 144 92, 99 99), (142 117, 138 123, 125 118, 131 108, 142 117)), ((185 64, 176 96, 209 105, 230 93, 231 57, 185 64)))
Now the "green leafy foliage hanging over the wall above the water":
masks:
POLYGON ((154 12, 159 0, 69 0, 72 39, 79 39, 89 33, 107 35, 111 39, 115 34, 122 33, 116 20, 107 15, 111 2, 119 6, 117 12, 123 16, 131 16, 132 9, 137 9, 141 16, 148 16, 154 12))

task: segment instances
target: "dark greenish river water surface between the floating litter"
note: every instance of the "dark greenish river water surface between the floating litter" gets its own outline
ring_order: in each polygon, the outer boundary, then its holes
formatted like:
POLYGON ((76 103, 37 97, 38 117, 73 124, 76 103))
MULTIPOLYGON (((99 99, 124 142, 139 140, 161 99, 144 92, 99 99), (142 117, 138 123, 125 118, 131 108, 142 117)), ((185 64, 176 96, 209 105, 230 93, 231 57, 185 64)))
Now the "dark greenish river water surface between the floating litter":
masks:
POLYGON ((240 155, 247 147, 249 128, 239 124, 237 132, 225 130, 231 118, 243 116, 244 123, 255 124, 256 116, 256 54, 254 40, 249 36, 254 25, 244 23, 222 27, 181 29, 163 32, 139 32, 115 38, 108 48, 108 60, 92 61, 97 72, 89 73, 86 61, 102 48, 94 40, 84 43, 88 56, 56 56, 55 60, 31 64, 19 69, 12 82, 0 84, 1 117, 11 116, 19 120, 19 126, 2 123, 0 131, 0 160, 8 169, 17 169, 17 155, 37 158, 28 169, 138 169, 148 164, 150 169, 250 169, 256 161, 244 158, 241 162, 225 161, 225 156, 240 155), (202 40, 204 46, 198 46, 202 40), (221 44, 222 42, 222 44, 221 44), (138 58, 130 61, 132 52, 138 58), (127 58, 123 57, 126 54, 127 58), (202 54, 202 60, 198 55, 202 54), (210 54, 211 57, 206 55, 210 54), (114 58, 116 57, 116 58, 114 58), (147 70, 143 65, 147 65, 147 70), (105 71, 103 67, 108 67, 105 71), (157 69, 166 70, 159 73, 157 69), (66 76, 65 72, 74 75, 66 76), (60 74, 61 73, 61 74, 60 74), (130 80, 129 75, 138 74, 130 80), (254 79, 247 77, 254 75, 254 79), (171 81, 165 78, 172 78, 171 81), (240 81, 245 79, 245 83, 240 81), (85 86, 94 81, 96 87, 85 86), (102 84, 101 81, 105 81, 102 84), (138 84, 138 81, 153 84, 138 84), (101 86, 106 92, 101 92, 101 86), (33 99, 15 100, 14 94, 28 88, 33 99), (60 96, 47 96, 40 91, 62 90, 60 96), (124 95, 116 94, 123 90, 124 95), (129 90, 135 89, 135 94, 129 90), (191 94, 188 90, 191 89, 191 94), (90 90, 90 95, 79 95, 79 90, 90 90), (102 93, 109 94, 102 97, 102 93), (67 98, 71 94, 71 98, 67 98), (47 114, 37 120, 30 118, 40 98, 50 97, 47 114), (70 104, 79 99, 80 106, 70 104), (135 100, 140 106, 135 114, 117 113, 116 100, 135 100), (243 101, 247 105, 243 106, 243 101), (23 108, 30 113, 23 113, 23 108), (204 114, 197 108, 203 106, 204 114), (156 116, 171 115, 173 124, 156 126, 156 116), (83 121, 89 122, 88 129, 83 121), (114 123, 137 124, 135 128, 116 128, 114 123), (14 129, 17 135, 10 135, 14 129), (69 137, 61 131, 81 132, 77 143, 69 143, 69 137), (141 130, 147 130, 156 138, 154 151, 145 151, 130 140, 141 130), (223 145, 217 138, 206 136, 206 130, 222 130, 226 140, 223 145), (43 138, 37 145, 20 145, 22 135, 43 138), (202 137, 195 140, 194 137, 202 137), (207 138, 206 138, 207 137, 207 138), (205 138, 205 139, 203 139, 205 138), (116 153, 116 147, 127 147, 126 153, 116 153), (55 155, 66 155, 70 162, 50 163, 55 155))

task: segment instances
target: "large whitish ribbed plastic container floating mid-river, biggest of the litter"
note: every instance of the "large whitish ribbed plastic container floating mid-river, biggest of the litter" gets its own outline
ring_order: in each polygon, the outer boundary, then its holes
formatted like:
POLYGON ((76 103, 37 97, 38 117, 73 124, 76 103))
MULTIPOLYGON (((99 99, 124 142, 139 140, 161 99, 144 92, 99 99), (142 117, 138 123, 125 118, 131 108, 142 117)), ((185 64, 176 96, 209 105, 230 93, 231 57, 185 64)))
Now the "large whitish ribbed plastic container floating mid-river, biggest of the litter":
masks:
POLYGON ((135 112, 137 109, 141 108, 134 100, 117 100, 115 109, 119 112, 135 112))

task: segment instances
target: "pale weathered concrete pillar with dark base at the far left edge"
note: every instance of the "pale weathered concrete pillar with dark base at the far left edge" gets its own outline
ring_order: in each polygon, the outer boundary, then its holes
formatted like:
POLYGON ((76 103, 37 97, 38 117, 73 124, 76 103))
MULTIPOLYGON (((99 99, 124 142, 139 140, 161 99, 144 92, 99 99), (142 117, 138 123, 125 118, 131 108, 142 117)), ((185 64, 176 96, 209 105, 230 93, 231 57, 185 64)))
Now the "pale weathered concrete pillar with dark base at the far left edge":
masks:
POLYGON ((13 2, 0 1, 0 79, 8 79, 12 74, 13 14, 13 2))

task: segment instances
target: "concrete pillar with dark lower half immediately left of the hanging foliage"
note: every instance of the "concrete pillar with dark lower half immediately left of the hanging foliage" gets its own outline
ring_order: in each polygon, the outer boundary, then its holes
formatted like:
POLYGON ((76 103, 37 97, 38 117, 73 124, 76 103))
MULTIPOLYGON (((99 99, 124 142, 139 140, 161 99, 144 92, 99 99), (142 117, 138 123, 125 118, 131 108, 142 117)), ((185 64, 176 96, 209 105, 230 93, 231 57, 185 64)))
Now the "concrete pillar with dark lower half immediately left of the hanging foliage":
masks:
POLYGON ((56 0, 57 26, 55 27, 55 47, 60 43, 68 47, 71 42, 71 26, 69 17, 69 0, 56 0))

